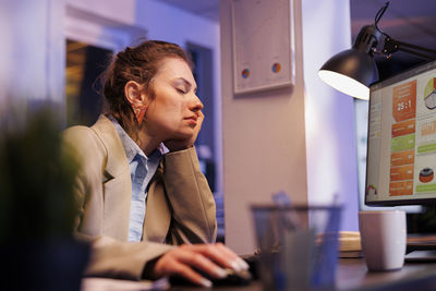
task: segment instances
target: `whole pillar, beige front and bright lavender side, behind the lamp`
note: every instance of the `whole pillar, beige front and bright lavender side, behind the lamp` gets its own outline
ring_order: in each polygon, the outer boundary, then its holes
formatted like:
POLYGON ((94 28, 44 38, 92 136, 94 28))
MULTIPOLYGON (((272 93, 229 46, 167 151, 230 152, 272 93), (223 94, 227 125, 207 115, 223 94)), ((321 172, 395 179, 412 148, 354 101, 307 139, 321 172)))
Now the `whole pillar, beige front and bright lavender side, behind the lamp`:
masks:
POLYGON ((232 94, 231 0, 221 0, 226 243, 255 248, 249 206, 286 191, 294 203, 346 205, 342 229, 358 229, 358 181, 350 97, 320 83, 317 70, 350 45, 348 0, 294 0, 295 85, 232 94))

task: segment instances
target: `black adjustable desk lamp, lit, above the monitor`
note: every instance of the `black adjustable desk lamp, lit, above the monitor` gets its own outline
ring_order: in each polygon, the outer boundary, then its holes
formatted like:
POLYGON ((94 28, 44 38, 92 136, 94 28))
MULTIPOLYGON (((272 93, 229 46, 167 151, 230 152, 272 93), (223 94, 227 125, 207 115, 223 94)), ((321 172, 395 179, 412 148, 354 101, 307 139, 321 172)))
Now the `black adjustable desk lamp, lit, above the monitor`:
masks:
POLYGON ((378 81, 374 54, 378 53, 389 59, 393 52, 401 50, 424 59, 436 59, 436 50, 395 40, 378 28, 377 24, 388 7, 389 1, 377 12, 373 25, 361 28, 351 49, 331 57, 319 69, 318 76, 325 83, 347 95, 368 100, 370 85, 378 81), (382 35, 385 37, 384 48, 382 52, 377 52, 382 35))

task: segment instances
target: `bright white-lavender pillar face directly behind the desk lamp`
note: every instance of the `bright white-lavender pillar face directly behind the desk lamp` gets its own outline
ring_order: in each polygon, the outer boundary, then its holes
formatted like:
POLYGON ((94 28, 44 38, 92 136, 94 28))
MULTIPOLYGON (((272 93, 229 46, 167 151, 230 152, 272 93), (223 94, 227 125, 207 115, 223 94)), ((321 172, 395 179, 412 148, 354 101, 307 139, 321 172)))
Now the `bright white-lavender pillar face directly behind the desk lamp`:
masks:
POLYGON ((317 71, 351 47, 349 0, 301 1, 307 150, 312 204, 344 205, 343 230, 358 230, 359 182, 353 98, 320 81, 317 71))

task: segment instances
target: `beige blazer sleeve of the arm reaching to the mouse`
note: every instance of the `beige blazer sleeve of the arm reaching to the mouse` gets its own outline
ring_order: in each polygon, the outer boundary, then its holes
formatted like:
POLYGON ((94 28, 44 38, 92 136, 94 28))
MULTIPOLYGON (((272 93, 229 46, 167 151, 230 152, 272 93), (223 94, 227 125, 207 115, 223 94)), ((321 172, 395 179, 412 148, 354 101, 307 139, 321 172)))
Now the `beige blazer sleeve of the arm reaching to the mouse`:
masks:
POLYGON ((145 265, 173 246, 143 241, 137 243, 104 235, 102 175, 106 154, 104 145, 89 128, 74 126, 63 135, 64 146, 73 150, 81 162, 75 187, 78 215, 74 237, 90 245, 90 259, 86 276, 140 280, 145 265))

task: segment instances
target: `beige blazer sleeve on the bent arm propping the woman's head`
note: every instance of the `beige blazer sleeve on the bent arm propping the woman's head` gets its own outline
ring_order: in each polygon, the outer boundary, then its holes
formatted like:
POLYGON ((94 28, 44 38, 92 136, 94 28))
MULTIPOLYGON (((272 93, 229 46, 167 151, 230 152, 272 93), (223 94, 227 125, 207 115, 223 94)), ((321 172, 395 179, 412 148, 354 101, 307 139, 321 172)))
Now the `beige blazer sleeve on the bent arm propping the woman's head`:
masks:
POLYGON ((164 156, 164 184, 172 211, 167 243, 215 242, 215 199, 199 170, 195 147, 164 156))

